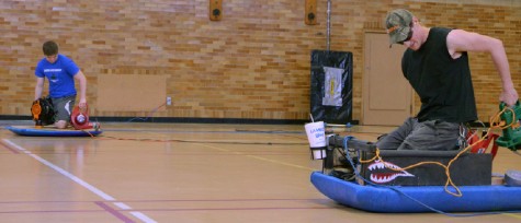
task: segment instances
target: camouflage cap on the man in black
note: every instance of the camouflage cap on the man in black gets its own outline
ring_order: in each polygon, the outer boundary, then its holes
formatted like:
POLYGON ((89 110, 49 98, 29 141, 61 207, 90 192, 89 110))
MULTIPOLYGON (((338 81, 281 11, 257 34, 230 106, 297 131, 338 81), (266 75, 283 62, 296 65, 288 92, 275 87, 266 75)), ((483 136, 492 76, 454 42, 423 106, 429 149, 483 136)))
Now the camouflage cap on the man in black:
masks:
POLYGON ((410 23, 412 22, 412 13, 405 9, 393 10, 385 19, 385 27, 389 34, 390 45, 403 42, 410 32, 410 23))

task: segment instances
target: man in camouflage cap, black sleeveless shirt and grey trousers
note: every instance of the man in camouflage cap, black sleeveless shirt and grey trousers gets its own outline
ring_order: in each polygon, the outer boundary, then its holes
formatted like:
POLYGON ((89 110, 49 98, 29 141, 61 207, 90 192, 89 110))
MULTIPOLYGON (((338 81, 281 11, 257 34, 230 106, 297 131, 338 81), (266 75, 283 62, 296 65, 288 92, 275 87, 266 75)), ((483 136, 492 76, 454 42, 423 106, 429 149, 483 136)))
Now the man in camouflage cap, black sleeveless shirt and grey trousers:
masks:
POLYGON ((461 124, 477 120, 467 51, 490 54, 502 83, 499 99, 510 106, 518 101, 501 40, 463 30, 426 27, 404 9, 389 12, 385 23, 390 45, 408 47, 401 71, 420 96, 421 108, 381 137, 380 149, 457 149, 461 124))

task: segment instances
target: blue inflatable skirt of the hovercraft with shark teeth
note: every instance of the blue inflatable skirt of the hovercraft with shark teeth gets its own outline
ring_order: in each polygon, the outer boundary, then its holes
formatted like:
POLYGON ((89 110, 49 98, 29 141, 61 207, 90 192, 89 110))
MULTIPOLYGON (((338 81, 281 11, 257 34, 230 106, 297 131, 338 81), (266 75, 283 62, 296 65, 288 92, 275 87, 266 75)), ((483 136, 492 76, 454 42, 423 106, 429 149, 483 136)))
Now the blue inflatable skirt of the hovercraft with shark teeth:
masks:
POLYGON ((461 186, 462 197, 444 191, 444 186, 362 186, 319 172, 313 185, 341 204, 387 213, 521 211, 521 187, 502 185, 461 186))

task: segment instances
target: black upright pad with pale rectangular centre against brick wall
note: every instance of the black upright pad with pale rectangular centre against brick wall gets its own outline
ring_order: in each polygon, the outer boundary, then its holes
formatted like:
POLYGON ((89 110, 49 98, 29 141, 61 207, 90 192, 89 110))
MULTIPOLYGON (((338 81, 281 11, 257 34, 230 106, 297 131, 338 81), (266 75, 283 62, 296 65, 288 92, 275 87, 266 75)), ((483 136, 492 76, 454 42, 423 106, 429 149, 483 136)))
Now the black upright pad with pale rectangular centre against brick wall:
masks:
POLYGON ((314 120, 328 124, 352 121, 353 54, 313 50, 310 70, 310 114, 314 120))

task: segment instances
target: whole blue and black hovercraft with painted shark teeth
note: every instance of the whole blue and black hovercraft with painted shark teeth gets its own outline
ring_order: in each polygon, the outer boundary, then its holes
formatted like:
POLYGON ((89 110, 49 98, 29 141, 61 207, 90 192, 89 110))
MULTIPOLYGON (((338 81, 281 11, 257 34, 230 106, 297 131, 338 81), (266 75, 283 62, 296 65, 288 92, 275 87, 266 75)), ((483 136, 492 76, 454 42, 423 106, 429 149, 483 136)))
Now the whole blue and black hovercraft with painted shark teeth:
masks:
POLYGON ((514 118, 521 106, 500 108, 501 137, 487 131, 455 151, 378 150, 373 142, 330 134, 326 146, 312 146, 312 159, 322 160, 322 171, 314 172, 310 181, 326 197, 370 212, 521 212, 520 172, 491 173, 497 145, 514 153, 521 145, 514 118), (494 148, 487 153, 489 142, 494 148))

